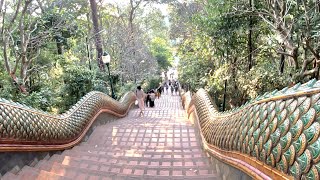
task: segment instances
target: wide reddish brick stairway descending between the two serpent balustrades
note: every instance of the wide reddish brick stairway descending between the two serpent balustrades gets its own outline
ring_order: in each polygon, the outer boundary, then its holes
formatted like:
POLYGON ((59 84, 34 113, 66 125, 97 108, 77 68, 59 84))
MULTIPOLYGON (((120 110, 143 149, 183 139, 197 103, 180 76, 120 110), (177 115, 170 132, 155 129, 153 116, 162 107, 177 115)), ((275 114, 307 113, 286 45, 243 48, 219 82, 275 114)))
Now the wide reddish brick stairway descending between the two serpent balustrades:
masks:
POLYGON ((143 117, 132 110, 126 118, 97 127, 87 142, 24 167, 20 179, 221 179, 180 97, 165 95, 155 104, 143 117))

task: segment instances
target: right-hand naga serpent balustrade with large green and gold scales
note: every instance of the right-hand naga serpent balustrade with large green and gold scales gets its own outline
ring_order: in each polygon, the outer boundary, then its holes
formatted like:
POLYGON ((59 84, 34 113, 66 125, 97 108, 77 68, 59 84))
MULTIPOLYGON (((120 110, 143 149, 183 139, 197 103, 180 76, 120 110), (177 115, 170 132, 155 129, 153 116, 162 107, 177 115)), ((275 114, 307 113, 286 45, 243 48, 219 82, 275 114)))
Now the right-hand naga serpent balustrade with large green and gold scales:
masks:
POLYGON ((266 93, 227 112, 203 89, 190 97, 184 93, 183 104, 217 159, 255 179, 319 179, 320 81, 266 93))

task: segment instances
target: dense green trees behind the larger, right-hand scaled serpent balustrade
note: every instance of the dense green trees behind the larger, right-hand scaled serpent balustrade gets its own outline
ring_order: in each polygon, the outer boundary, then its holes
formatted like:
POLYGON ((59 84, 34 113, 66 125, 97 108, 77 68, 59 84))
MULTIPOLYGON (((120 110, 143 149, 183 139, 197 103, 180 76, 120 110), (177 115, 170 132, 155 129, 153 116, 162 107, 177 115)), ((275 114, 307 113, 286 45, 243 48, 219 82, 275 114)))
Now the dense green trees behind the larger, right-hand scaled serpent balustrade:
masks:
MULTIPOLYGON (((315 1, 196 1, 173 5, 180 78, 228 106, 275 88, 319 78, 315 1), (183 28, 179 28, 183 27, 183 28), (199 71, 201 69, 201 71, 199 71)), ((318 23, 317 23, 318 22, 318 23)))

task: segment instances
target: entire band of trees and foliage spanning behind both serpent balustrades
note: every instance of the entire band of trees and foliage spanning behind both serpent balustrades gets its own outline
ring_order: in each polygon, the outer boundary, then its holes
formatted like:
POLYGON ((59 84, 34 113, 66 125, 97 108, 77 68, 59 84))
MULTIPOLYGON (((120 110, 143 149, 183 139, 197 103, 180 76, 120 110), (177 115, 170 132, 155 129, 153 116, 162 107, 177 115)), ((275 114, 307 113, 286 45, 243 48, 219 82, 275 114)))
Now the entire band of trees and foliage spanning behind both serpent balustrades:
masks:
POLYGON ((179 80, 228 108, 319 78, 314 0, 0 0, 0 97, 63 112, 92 90, 119 97, 179 80), (149 84, 149 85, 147 85, 149 84), (151 85, 152 84, 152 85, 151 85), (225 93, 225 85, 226 93, 225 93))

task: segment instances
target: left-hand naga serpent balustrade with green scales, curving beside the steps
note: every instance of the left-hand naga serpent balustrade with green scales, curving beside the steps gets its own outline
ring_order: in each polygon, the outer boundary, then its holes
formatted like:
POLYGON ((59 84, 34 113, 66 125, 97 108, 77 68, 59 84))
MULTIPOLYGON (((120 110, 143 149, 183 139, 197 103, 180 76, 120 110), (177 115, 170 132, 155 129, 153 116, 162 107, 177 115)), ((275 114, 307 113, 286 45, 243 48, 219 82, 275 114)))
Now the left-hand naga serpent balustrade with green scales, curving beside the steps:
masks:
POLYGON ((68 112, 54 116, 0 99, 0 151, 70 148, 81 141, 100 113, 123 117, 134 101, 133 92, 119 102, 101 92, 90 92, 68 112))

